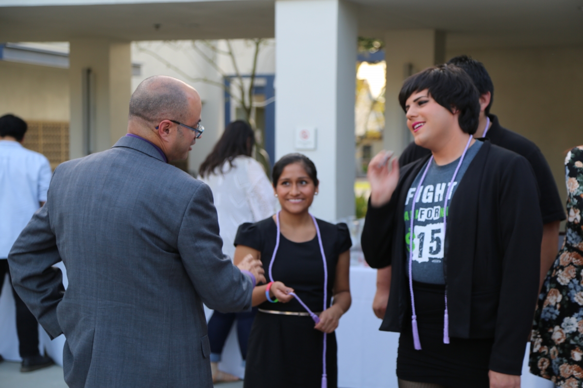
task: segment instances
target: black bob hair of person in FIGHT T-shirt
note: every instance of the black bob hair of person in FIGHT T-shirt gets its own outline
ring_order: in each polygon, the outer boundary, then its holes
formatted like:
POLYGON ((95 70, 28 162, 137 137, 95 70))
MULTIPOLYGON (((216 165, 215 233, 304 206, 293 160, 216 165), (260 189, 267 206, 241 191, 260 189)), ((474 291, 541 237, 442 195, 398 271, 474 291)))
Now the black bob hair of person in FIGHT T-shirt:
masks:
POLYGON ((410 95, 426 89, 437 104, 451 113, 454 113, 454 108, 459 111, 462 131, 470 135, 476 133, 480 118, 480 94, 468 73, 461 67, 445 63, 413 74, 405 80, 399 92, 403 111, 406 112, 405 102, 410 95))

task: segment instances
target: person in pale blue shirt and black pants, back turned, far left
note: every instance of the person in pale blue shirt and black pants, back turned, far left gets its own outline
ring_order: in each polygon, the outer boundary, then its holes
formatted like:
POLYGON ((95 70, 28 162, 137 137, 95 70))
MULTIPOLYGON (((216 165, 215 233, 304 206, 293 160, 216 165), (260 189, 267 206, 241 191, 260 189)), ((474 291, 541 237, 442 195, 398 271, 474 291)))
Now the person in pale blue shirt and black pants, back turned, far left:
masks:
MULTIPOLYGON (((0 118, 0 292, 6 274, 10 287, 8 252, 34 212, 47 201, 51 165, 44 155, 22 146, 27 125, 14 115, 0 118)), ((35 371, 53 364, 38 351, 38 323, 12 289, 16 302, 16 329, 21 372, 35 371)), ((0 356, 0 361, 2 357, 0 356)))

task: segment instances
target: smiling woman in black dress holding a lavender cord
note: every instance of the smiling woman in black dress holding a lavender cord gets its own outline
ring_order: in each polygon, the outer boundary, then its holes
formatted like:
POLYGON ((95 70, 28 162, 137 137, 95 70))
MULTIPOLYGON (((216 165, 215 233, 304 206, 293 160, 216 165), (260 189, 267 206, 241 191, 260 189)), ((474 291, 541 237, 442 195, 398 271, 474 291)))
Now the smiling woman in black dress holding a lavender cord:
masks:
POLYGON ((282 211, 244 223, 235 239, 234 262, 248 254, 260 258, 265 277, 272 279, 253 291, 259 312, 251 328, 244 387, 319 388, 325 374, 328 388, 336 388, 334 330, 351 302, 348 227, 308 212, 318 178, 306 156, 290 154, 275 163, 273 187, 282 211), (300 301, 318 317, 312 320, 300 301))

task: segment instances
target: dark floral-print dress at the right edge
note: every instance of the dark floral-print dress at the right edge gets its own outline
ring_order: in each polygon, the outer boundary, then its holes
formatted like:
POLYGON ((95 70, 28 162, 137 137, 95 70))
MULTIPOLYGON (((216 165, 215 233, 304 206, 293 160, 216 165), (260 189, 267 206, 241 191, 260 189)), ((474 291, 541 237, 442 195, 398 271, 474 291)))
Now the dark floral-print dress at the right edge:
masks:
POLYGON ((583 388, 583 146, 568 152, 565 170, 565 242, 539 295, 529 365, 559 387, 583 388))

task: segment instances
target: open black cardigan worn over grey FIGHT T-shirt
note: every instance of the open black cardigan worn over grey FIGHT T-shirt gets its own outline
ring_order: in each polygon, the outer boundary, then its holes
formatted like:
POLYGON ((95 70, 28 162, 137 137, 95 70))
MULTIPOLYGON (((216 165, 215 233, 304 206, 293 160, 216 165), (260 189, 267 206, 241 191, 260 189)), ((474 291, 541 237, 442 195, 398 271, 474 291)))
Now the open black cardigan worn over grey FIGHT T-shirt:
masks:
MULTIPOLYGON (((490 369, 520 375, 538 295, 542 218, 529 162, 484 141, 449 205, 444 242, 449 335, 494 338, 490 369)), ((403 166, 388 204, 370 205, 361 244, 373 268, 392 265, 381 330, 400 332, 409 305, 405 198, 429 155, 403 166)))

